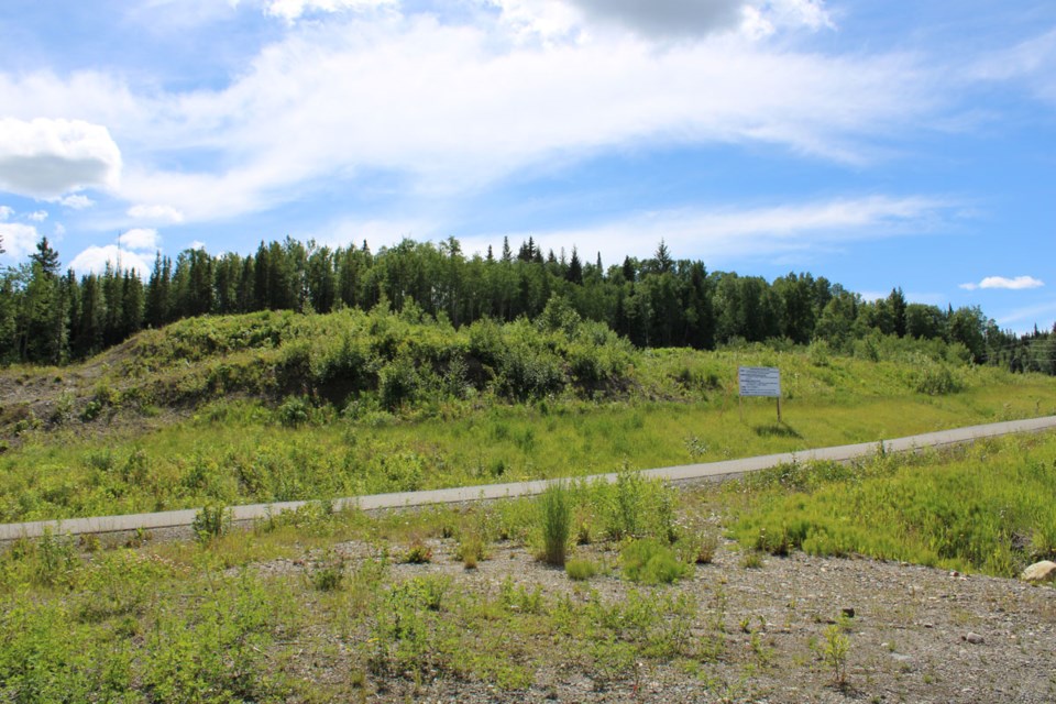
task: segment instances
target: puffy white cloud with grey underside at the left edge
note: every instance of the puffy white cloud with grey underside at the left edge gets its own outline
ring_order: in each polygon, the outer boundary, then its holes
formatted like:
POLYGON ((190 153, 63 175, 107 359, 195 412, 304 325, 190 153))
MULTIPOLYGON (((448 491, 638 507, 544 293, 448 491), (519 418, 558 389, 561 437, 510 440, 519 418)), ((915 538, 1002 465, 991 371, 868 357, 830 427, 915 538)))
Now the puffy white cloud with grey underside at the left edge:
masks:
POLYGON ((107 128, 82 120, 0 119, 0 188, 48 198, 117 188, 121 152, 107 128))

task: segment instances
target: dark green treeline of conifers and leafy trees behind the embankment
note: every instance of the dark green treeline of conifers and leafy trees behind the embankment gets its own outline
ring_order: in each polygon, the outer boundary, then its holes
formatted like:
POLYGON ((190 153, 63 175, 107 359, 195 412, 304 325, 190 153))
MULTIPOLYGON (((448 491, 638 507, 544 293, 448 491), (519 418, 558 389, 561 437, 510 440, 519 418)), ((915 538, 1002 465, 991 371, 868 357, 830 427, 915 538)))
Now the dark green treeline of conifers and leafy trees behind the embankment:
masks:
POLYGON ((956 343, 976 363, 1056 373, 1056 336, 1020 339, 978 307, 908 302, 898 288, 866 301, 811 274, 769 283, 708 272, 702 262, 673 258, 663 242, 651 257, 605 267, 601 255, 584 262, 575 248, 570 255, 543 254, 531 238, 517 251, 504 240, 499 252, 488 248, 472 256, 454 238, 404 240, 377 253, 366 242, 329 248, 287 238, 262 242, 249 256, 200 249, 175 261, 158 254, 145 283, 139 272, 109 266, 80 278, 63 274, 44 238, 26 263, 0 275, 0 361, 80 360, 144 328, 208 314, 370 310, 378 304, 398 311, 414 301, 461 327, 483 318, 535 319, 553 297, 641 348, 822 340, 853 351, 880 334, 956 343))

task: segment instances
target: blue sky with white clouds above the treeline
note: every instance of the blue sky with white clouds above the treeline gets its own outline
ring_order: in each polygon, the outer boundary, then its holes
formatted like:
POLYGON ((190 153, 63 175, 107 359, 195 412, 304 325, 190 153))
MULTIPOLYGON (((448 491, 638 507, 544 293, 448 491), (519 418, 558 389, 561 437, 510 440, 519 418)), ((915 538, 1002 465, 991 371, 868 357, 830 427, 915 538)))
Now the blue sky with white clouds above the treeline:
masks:
POLYGON ((1056 3, 3 0, 0 265, 287 235, 1056 320, 1056 3))

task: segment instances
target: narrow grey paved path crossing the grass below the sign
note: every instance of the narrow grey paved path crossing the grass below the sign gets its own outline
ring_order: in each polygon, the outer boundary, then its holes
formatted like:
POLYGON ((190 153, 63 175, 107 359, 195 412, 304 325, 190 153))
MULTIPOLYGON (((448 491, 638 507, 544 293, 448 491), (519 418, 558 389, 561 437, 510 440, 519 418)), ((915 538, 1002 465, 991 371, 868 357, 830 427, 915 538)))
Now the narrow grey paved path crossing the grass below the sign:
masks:
MULTIPOLYGON (((684 464, 658 470, 646 470, 642 475, 662 479, 675 483, 722 481, 740 476, 749 472, 758 472, 779 464, 790 462, 805 462, 810 460, 829 460, 845 462, 855 458, 875 454, 882 442, 884 452, 905 452, 919 448, 936 448, 963 442, 970 442, 982 438, 996 438, 1018 432, 1040 432, 1056 428, 1056 416, 1032 418, 1028 420, 1012 420, 985 426, 971 426, 939 432, 927 432, 897 440, 878 442, 862 442, 845 444, 836 448, 820 450, 804 450, 801 452, 783 452, 741 460, 725 462, 708 462, 704 464, 684 464)), ((615 482, 616 474, 597 474, 585 477, 615 482)), ((373 496, 358 496, 339 498, 334 502, 336 508, 360 507, 364 510, 380 508, 402 508, 408 506, 426 506, 429 504, 454 504, 481 499, 506 498, 512 496, 531 496, 540 494, 547 487, 547 481, 517 482, 513 484, 486 484, 483 486, 463 486, 457 488, 441 488, 428 492, 402 492, 397 494, 375 494, 373 496)), ((249 521, 266 518, 284 510, 299 508, 309 502, 285 502, 279 504, 251 504, 233 506, 231 518, 234 521, 249 521)), ((81 535, 127 532, 138 529, 157 530, 168 528, 186 528, 195 520, 197 509, 169 510, 160 514, 132 514, 127 516, 100 516, 94 518, 70 518, 67 520, 42 520, 25 524, 0 525, 0 541, 14 540, 21 537, 38 537, 45 529, 55 535, 81 535)))

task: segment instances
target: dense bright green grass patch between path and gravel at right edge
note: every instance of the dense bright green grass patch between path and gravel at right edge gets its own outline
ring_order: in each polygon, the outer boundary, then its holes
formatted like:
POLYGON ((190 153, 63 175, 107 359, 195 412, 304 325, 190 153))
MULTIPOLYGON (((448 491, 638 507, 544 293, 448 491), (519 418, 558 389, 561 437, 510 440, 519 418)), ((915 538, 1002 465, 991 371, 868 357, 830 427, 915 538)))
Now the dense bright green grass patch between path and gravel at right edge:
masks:
POLYGON ((1053 435, 784 466, 746 485, 735 531, 773 554, 858 553, 1001 576, 1056 556, 1053 435))

